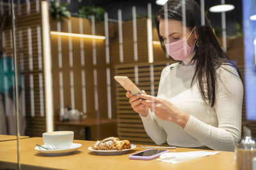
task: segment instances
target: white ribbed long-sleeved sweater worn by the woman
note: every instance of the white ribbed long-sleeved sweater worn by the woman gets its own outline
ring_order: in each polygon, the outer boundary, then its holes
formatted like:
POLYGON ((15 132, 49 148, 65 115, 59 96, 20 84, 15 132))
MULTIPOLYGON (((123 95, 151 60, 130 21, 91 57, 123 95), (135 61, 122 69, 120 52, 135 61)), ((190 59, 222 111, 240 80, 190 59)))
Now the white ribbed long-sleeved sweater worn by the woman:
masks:
POLYGON ((213 150, 234 151, 241 138, 243 103, 243 83, 236 69, 227 65, 218 68, 216 101, 212 108, 200 96, 197 83, 191 87, 194 73, 195 64, 175 63, 165 67, 157 94, 189 113, 186 127, 182 129, 173 122, 161 120, 149 111, 147 117, 141 117, 145 131, 157 145, 167 141, 168 145, 180 147, 207 146, 213 150))

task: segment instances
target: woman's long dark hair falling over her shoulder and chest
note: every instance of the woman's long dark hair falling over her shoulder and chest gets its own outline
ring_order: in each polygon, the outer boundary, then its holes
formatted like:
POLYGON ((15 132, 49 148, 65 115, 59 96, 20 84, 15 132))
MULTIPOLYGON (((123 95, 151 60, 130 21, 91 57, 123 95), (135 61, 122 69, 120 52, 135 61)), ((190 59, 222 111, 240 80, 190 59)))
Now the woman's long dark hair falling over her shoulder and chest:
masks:
MULTIPOLYGON (((196 28, 198 35, 198 46, 195 45, 195 55, 191 62, 196 62, 195 74, 191 81, 191 85, 195 79, 197 80, 200 94, 205 103, 214 106, 216 96, 216 69, 223 64, 234 66, 241 78, 241 73, 237 67, 230 62, 230 59, 221 49, 209 20, 205 16, 205 25, 201 25, 200 6, 194 0, 169 0, 167 5, 168 19, 182 21, 182 5, 186 8, 186 26, 193 29, 196 28), (183 4, 185 3, 185 4, 183 4), (206 85, 204 85, 206 83, 206 85)), ((165 6, 164 5, 164 6, 165 6)), ((164 19, 164 7, 158 11, 156 15, 156 28, 161 41, 161 46, 165 51, 163 38, 159 34, 159 21, 164 19)), ((241 78, 242 80, 242 78, 241 78)))

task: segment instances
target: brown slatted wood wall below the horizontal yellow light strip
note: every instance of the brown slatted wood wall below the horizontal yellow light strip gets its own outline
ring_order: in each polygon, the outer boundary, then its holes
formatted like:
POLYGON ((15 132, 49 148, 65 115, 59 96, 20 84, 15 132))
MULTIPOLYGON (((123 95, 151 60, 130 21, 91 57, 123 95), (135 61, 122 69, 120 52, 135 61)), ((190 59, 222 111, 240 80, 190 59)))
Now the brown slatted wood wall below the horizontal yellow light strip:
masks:
MULTIPOLYGON (((65 18, 63 22, 59 22, 61 25, 61 32, 68 32, 68 20, 71 22, 72 33, 79 32, 79 20, 83 23, 83 34, 92 34, 92 26, 90 20, 84 18, 70 17, 65 18)), ((51 20, 51 31, 57 31, 58 20, 51 20)), ((109 24, 111 28, 111 24, 109 24)), ((95 34, 104 36, 104 24, 95 23, 95 34)), ((112 30, 109 30, 109 36, 113 36, 112 30)), ((108 118, 108 96, 107 96, 107 77, 106 69, 109 68, 111 78, 113 78, 113 68, 111 63, 106 63, 105 53, 105 41, 102 39, 96 39, 96 56, 97 64, 93 65, 93 46, 92 39, 83 38, 84 46, 84 66, 81 65, 81 39, 71 38, 72 41, 72 56, 73 66, 70 66, 69 58, 69 45, 68 37, 60 36, 61 39, 61 58, 62 67, 59 67, 58 59, 58 36, 51 35, 51 48, 52 48, 52 86, 53 86, 53 97, 54 97, 54 114, 55 119, 59 119, 59 113, 61 110, 60 106, 60 75, 63 73, 63 101, 64 108, 71 106, 71 92, 70 92, 70 71, 74 73, 74 98, 75 108, 79 111, 83 111, 83 94, 82 94, 82 74, 83 70, 85 73, 85 84, 86 84, 86 116, 91 118, 108 118), (95 87, 93 85, 93 70, 97 71, 97 91, 99 101, 99 113, 95 110, 95 87)), ((111 80, 111 91, 115 90, 115 85, 111 80)), ((114 101, 115 96, 111 96, 114 101)), ((115 103, 111 103, 111 108, 115 108, 115 103)), ((113 118, 116 117, 115 111, 113 111, 113 118)))

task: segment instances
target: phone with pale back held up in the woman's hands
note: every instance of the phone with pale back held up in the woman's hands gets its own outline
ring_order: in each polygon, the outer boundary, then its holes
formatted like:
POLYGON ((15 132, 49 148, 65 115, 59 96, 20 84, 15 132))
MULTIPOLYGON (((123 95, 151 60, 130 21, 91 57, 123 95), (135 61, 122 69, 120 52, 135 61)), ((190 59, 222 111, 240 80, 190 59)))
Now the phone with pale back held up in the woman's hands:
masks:
POLYGON ((115 76, 114 78, 125 90, 130 91, 132 96, 143 93, 127 76, 115 76))

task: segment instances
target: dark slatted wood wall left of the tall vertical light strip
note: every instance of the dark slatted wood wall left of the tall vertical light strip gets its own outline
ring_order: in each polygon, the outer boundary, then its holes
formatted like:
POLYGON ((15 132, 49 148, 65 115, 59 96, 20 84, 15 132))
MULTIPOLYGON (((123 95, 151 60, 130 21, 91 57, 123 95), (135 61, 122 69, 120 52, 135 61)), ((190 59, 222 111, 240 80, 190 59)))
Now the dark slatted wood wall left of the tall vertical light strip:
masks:
MULTIPOLYGON (((42 16, 40 1, 30 2, 30 13, 27 13, 27 4, 20 5, 20 14, 18 13, 18 6, 16 6, 16 46, 17 46, 17 60, 21 71, 21 75, 24 76, 25 87, 25 99, 26 99, 26 135, 28 136, 42 136, 42 132, 46 131, 45 117, 40 115, 40 88, 39 88, 39 74, 43 76, 43 91, 44 91, 44 71, 38 67, 38 39, 40 41, 42 52, 42 16), (36 4, 37 3, 37 4, 36 4), (37 8, 36 8, 37 7, 37 8), (38 9, 39 11, 36 11, 38 9), (37 33, 37 27, 39 27, 41 34, 37 33), (28 29, 31 29, 31 48, 33 58, 33 69, 29 69, 29 43, 28 43, 28 29), (21 32, 21 34, 20 34, 21 32), (20 38, 20 35, 22 38, 20 38), (23 56, 23 61, 21 57, 23 56), (29 75, 33 75, 33 91, 34 91, 34 105, 35 105, 35 117, 31 117, 31 97, 30 97, 30 80, 29 75)), ((12 40, 10 33, 12 31, 12 19, 6 18, 6 24, 4 27, 5 34, 5 50, 6 55, 12 57, 12 40)), ((43 53, 42 53, 43 56, 43 53)), ((42 60, 42 66, 44 61, 42 60)), ((44 95, 44 94, 43 94, 44 95)), ((43 96, 44 99, 44 96, 43 96)), ((44 101, 43 101, 44 103, 44 101)), ((43 104, 44 107, 45 104, 43 104)), ((43 108, 45 113, 45 107, 43 108)))

